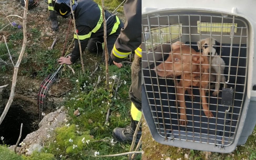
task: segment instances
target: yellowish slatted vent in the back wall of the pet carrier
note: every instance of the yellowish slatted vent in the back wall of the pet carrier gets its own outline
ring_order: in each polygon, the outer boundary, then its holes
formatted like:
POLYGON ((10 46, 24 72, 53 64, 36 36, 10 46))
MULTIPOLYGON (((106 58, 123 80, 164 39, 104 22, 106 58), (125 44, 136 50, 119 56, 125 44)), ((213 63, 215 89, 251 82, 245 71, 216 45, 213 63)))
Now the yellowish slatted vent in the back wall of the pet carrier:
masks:
MULTIPOLYGON (((233 23, 208 23, 201 22, 201 32, 230 33, 233 23)), ((197 33, 200 33, 200 21, 197 21, 197 33)), ((234 33, 237 33, 237 23, 234 23, 234 33)))

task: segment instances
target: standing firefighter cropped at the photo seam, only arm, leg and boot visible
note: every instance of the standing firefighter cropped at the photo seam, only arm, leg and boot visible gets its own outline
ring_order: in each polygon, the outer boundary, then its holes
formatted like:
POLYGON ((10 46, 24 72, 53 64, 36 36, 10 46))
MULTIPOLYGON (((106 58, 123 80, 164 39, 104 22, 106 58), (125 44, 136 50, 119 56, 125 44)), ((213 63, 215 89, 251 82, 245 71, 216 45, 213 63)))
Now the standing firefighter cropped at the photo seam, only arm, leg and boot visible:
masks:
MULTIPOLYGON (((126 23, 121 34, 115 42, 111 52, 114 64, 121 68, 125 57, 135 51, 134 61, 131 65, 132 84, 129 90, 131 100, 131 123, 125 128, 115 128, 113 136, 122 142, 131 142, 136 126, 141 118, 141 0, 127 0, 124 4, 126 23)), ((141 126, 136 142, 141 137, 141 126)))

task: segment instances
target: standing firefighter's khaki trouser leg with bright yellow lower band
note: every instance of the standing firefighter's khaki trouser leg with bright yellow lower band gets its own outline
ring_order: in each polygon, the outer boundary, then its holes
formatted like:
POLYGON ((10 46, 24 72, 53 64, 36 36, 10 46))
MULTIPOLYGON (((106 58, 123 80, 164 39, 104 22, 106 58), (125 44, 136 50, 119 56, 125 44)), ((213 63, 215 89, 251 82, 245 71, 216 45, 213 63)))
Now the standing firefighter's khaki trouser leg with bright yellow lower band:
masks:
MULTIPOLYGON (((131 129, 135 131, 141 118, 141 57, 135 54, 131 65, 132 84, 129 90, 131 104, 131 129)), ((141 126, 140 126, 141 130, 141 126)))

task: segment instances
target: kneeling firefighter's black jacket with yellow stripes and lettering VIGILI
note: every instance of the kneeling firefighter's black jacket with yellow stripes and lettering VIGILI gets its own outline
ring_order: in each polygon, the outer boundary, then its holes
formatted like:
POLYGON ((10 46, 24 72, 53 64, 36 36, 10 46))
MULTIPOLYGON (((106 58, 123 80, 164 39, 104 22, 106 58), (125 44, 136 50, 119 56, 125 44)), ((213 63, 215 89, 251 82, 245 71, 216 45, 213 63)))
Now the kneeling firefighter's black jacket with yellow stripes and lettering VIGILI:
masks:
MULTIPOLYGON (((104 36, 104 25, 102 17, 102 8, 96 2, 92 0, 80 0, 75 9, 75 23, 76 32, 81 42, 82 52, 85 50, 89 38, 103 37, 104 36)), ((105 19, 107 27, 107 36, 116 32, 120 25, 120 20, 116 15, 112 15, 105 10, 105 19)), ((76 34, 75 47, 71 54, 71 62, 74 63, 80 58, 79 44, 76 34)))

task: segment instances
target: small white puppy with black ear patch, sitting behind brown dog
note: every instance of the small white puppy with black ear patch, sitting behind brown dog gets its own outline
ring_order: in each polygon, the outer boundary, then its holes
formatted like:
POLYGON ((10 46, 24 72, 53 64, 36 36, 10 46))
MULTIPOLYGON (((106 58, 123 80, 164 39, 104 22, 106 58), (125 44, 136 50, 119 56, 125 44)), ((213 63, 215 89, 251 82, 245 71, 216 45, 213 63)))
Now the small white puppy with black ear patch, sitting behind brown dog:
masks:
MULTIPOLYGON (((224 74, 225 69, 225 62, 221 58, 220 53, 220 43, 216 41, 214 38, 206 38, 202 39, 201 41, 197 42, 198 49, 200 50, 200 43, 201 43, 201 53, 203 55, 210 56, 211 54, 211 75, 210 75, 210 82, 216 81, 215 83, 215 90, 212 93, 213 96, 217 96, 219 94, 219 83, 224 83, 226 81, 226 77, 224 74), (210 41, 211 39, 211 41, 210 41), (211 53, 210 53, 211 51, 211 53), (219 67, 220 66, 220 67, 219 67), (213 73, 213 74, 212 74, 213 73), (219 77, 220 76, 220 77, 219 77)), ((210 59, 210 57, 208 58, 210 59)), ((209 88, 209 86, 206 86, 206 89, 209 88)), ((213 89, 214 85, 210 87, 210 89, 213 89)))

